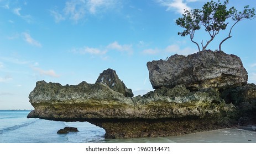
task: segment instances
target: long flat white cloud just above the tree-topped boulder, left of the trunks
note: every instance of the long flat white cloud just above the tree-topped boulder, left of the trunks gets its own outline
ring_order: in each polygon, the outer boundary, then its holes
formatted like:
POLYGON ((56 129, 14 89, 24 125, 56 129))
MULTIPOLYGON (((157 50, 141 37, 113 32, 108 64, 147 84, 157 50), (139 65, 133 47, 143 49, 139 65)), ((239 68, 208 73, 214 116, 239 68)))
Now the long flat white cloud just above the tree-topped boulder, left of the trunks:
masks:
POLYGON ((186 48, 181 49, 180 46, 178 46, 178 45, 170 45, 170 46, 167 46, 164 49, 159 49, 159 48, 151 49, 151 48, 149 48, 147 50, 142 51, 143 54, 159 54, 159 53, 175 54, 175 53, 177 53, 177 54, 182 54, 182 55, 192 54, 192 53, 195 53, 195 52, 197 52, 197 50, 195 50, 194 48, 186 47, 186 48))

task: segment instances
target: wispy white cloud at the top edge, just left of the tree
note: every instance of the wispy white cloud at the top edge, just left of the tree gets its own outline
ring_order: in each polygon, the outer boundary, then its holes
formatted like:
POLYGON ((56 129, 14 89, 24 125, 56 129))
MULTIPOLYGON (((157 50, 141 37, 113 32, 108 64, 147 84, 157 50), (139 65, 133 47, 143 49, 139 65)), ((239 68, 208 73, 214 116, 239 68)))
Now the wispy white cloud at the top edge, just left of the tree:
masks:
POLYGON ((190 10, 187 3, 196 2, 198 0, 156 0, 160 5, 167 7, 166 11, 174 10, 177 13, 183 14, 184 9, 190 10))

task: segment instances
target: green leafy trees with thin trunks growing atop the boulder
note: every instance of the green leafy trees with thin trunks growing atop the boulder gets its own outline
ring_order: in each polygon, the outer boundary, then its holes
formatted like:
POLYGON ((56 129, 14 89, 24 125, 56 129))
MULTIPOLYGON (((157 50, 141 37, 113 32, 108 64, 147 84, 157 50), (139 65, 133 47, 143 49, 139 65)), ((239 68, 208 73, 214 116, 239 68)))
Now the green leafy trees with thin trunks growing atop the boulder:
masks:
POLYGON ((253 19, 255 18, 255 9, 249 8, 249 5, 244 7, 242 12, 238 12, 238 10, 234 7, 227 9, 228 0, 223 3, 220 2, 207 2, 203 5, 202 9, 192 9, 186 10, 184 14, 182 14, 182 18, 176 20, 176 24, 180 27, 185 28, 184 31, 178 32, 180 36, 190 36, 190 40, 196 44, 198 47, 198 51, 205 51, 206 47, 209 43, 215 38, 217 34, 221 30, 226 30, 227 28, 227 19, 231 18, 234 21, 234 24, 229 29, 229 34, 226 38, 224 38, 220 45, 219 50, 221 51, 221 45, 228 38, 231 38, 231 32, 239 21, 242 19, 253 19), (200 30, 201 26, 205 28, 205 31, 210 35, 210 40, 207 40, 206 43, 203 40, 200 42, 202 50, 200 48, 199 43, 194 41, 194 35, 196 30, 200 30))

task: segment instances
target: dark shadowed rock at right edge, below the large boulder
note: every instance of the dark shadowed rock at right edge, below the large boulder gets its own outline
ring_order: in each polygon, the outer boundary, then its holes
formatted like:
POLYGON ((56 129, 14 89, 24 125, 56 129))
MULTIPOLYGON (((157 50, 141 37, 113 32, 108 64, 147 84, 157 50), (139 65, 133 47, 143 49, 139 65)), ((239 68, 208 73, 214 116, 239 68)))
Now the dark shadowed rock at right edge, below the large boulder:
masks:
POLYGON ((256 85, 247 84, 222 91, 221 97, 226 103, 233 103, 238 109, 239 124, 256 124, 256 85))

